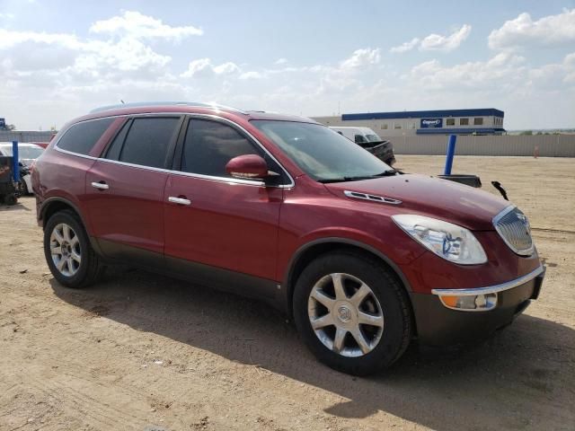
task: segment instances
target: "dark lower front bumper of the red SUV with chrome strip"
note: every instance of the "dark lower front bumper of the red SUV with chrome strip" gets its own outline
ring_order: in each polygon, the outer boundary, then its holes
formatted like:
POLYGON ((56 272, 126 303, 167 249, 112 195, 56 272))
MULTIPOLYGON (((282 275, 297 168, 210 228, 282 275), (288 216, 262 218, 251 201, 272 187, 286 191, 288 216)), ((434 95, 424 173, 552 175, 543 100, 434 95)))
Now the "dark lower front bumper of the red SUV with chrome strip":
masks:
POLYGON ((451 346, 488 338, 523 312, 537 299, 543 284, 545 269, 539 267, 524 277, 498 286, 476 289, 434 289, 435 295, 411 294, 417 324, 418 339, 430 346, 451 346), (447 308, 441 293, 463 295, 497 294, 497 305, 488 311, 462 311, 447 308))

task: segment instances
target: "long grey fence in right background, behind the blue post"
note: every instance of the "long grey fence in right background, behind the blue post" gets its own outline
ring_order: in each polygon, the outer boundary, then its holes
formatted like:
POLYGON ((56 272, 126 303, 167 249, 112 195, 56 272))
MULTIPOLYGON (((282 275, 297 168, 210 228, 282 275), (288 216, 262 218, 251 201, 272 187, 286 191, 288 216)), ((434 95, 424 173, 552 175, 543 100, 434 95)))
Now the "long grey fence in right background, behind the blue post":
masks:
MULTIPOLYGON (((382 136, 383 137, 383 136, 382 136)), ((390 136, 395 154, 443 155, 448 136, 390 136)), ((575 157, 575 135, 457 136, 459 155, 531 155, 575 157)))

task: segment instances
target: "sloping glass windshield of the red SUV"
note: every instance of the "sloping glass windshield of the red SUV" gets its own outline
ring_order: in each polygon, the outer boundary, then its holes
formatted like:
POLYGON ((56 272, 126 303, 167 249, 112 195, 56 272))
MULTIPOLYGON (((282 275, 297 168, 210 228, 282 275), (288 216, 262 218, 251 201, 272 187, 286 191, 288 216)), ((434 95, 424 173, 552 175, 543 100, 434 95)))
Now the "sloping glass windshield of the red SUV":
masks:
POLYGON ((320 124, 270 120, 253 120, 252 124, 314 180, 362 179, 393 171, 375 155, 320 124))

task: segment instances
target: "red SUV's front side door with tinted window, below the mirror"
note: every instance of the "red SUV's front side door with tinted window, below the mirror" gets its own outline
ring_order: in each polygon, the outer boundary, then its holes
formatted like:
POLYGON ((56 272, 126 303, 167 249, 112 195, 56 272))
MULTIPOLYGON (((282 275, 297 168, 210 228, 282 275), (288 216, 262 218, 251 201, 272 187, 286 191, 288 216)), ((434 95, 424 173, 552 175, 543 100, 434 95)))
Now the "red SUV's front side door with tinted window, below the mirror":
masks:
MULTIPOLYGON (((202 269, 208 276, 217 276, 217 269, 223 269, 273 280, 281 184, 289 181, 287 174, 251 136, 226 121, 190 119, 178 150, 175 158, 181 172, 170 175, 164 194, 167 265, 179 271, 190 269, 200 278, 202 269), (242 154, 264 157, 271 170, 281 172, 277 182, 266 185, 261 180, 231 178, 226 163, 242 154)), ((236 281, 219 287, 234 287, 236 281)), ((254 280, 251 286, 259 285, 254 280)))

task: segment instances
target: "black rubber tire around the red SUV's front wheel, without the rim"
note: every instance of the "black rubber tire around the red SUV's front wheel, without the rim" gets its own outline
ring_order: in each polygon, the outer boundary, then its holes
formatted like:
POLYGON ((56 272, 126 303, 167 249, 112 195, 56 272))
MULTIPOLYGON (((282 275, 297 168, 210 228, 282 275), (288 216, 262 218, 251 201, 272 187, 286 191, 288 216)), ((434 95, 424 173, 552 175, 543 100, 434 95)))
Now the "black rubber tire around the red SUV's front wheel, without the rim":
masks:
MULTIPOLYGON (((305 344, 325 365, 347 374, 374 374, 399 359, 411 341, 411 306, 403 286, 389 268, 368 255, 335 251, 314 259, 296 281, 294 299, 296 327, 305 344), (342 356, 316 336, 308 316, 308 299, 324 276, 346 273, 367 284, 381 306, 384 330, 373 350, 358 357, 342 356)), ((347 337, 347 335, 346 335, 347 337)))

